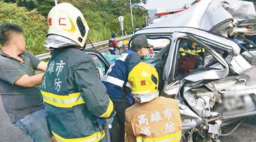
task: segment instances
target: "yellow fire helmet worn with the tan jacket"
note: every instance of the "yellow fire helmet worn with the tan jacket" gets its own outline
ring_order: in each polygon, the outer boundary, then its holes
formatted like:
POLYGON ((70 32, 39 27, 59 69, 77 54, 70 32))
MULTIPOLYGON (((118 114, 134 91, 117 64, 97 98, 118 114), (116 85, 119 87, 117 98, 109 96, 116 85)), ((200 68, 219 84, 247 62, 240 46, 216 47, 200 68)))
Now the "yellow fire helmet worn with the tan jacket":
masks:
POLYGON ((158 72, 145 62, 134 66, 129 73, 128 81, 133 95, 146 95, 158 91, 158 72))

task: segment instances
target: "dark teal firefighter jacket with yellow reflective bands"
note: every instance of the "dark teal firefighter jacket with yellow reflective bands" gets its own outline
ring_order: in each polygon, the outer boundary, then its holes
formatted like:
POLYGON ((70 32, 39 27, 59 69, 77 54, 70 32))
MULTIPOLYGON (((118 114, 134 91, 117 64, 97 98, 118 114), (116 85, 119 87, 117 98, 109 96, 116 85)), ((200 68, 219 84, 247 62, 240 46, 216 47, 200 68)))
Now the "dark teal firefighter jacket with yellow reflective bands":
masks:
POLYGON ((58 141, 105 141, 95 118, 109 118, 113 102, 88 55, 71 47, 55 49, 41 92, 58 141))

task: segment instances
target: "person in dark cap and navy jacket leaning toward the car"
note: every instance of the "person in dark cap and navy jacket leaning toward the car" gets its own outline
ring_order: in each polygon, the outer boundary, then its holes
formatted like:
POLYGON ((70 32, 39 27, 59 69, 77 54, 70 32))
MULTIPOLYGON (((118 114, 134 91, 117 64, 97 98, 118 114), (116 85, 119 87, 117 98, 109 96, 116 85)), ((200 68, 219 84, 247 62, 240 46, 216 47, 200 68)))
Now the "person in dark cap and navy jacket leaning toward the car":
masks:
POLYGON ((104 85, 108 90, 110 99, 112 99, 121 130, 121 141, 125 139, 125 110, 133 104, 131 90, 127 84, 127 77, 131 69, 142 58, 149 54, 148 50, 151 45, 147 42, 144 35, 137 36, 132 40, 131 49, 123 53, 119 59, 115 60, 106 73, 104 85))

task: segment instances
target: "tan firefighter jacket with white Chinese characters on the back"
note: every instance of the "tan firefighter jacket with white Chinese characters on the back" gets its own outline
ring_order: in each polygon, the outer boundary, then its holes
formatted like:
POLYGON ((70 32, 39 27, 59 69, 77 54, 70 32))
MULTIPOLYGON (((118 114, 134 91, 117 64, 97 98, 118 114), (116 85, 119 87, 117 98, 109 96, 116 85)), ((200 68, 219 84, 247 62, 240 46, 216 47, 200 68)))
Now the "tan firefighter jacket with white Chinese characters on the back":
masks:
POLYGON ((175 99, 157 97, 135 103, 125 111, 126 142, 169 141, 181 139, 181 118, 175 99))

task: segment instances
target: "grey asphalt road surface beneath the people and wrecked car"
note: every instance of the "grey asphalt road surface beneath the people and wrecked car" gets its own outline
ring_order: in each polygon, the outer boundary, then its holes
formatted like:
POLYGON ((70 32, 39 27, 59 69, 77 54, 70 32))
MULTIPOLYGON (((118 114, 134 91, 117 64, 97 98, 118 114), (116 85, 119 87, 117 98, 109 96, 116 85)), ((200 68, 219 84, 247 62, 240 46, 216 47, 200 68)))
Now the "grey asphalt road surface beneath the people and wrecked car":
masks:
MULTIPOLYGON (((100 52, 108 53, 108 49, 101 49, 100 52)), ((94 61, 98 62, 97 59, 94 59, 94 61)), ((222 133, 232 131, 236 124, 230 124, 230 126, 222 128, 222 133)), ((256 116, 247 118, 232 135, 220 137, 220 140, 225 142, 256 142, 256 116)), ((0 98, 0 142, 27 141, 30 142, 32 140, 11 124, 0 98)))

